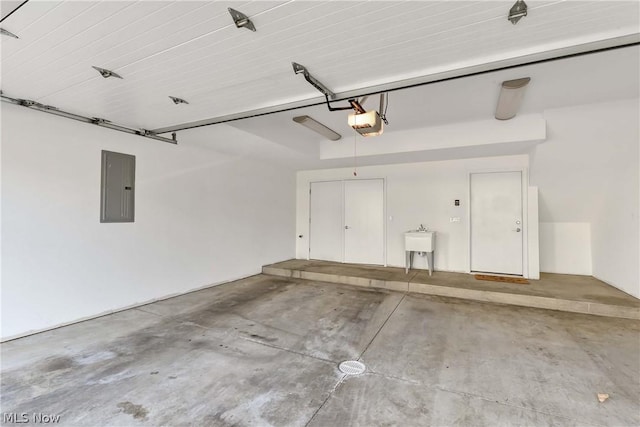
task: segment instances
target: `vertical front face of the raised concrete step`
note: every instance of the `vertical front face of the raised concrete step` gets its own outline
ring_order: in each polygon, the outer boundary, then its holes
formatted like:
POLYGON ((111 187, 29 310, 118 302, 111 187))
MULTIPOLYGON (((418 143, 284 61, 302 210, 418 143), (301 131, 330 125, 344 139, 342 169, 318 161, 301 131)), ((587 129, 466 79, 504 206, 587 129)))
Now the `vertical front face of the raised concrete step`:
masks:
POLYGON ((487 291, 454 286, 430 285, 426 283, 415 283, 410 280, 408 280, 407 282, 397 280, 386 281, 380 279, 319 273, 273 266, 263 267, 262 273, 272 276, 283 276, 320 282, 362 286, 366 288, 387 289, 398 292, 436 295, 480 302, 510 304, 522 307, 533 307, 547 310, 566 311, 571 313, 592 314, 596 316, 640 320, 640 308, 613 304, 601 304, 587 301, 575 301, 562 298, 542 297, 521 293, 487 291))

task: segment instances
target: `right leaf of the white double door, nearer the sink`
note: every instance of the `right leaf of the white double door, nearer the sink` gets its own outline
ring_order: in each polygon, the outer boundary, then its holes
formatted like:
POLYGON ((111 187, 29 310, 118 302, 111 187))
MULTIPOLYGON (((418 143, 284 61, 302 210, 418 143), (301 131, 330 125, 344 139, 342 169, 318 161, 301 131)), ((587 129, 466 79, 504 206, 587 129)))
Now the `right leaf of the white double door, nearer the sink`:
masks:
POLYGON ((384 181, 344 182, 344 262, 384 264, 384 181))

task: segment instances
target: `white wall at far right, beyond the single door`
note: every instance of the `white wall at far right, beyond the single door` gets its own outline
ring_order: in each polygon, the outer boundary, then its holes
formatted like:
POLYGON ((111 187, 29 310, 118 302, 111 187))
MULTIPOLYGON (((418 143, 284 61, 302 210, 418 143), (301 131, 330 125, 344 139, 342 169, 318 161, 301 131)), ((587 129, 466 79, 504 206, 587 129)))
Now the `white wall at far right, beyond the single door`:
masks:
POLYGON ((562 241, 565 255, 574 251, 580 259, 556 265, 558 272, 589 274, 590 269, 593 276, 636 297, 640 297, 638 105, 634 98, 545 111, 547 140, 532 152, 530 169, 532 184, 540 188, 540 221, 547 223, 546 233, 540 235, 541 256, 555 251, 562 241), (587 241, 591 266, 584 252, 587 241))

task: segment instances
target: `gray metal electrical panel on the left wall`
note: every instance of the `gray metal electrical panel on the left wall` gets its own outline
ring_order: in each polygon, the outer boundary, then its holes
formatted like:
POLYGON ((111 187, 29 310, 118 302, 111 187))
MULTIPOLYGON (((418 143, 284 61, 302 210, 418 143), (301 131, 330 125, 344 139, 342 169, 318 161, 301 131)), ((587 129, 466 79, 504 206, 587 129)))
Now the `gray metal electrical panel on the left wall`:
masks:
POLYGON ((136 157, 102 150, 100 222, 133 222, 136 157))

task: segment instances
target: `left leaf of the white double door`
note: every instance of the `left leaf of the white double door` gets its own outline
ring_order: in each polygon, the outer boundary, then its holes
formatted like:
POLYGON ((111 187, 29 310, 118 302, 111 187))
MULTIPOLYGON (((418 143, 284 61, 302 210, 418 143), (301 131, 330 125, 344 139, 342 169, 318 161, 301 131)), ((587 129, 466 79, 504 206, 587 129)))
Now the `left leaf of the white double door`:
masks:
POLYGON ((310 198, 309 258, 342 262, 342 181, 312 182, 310 198))

